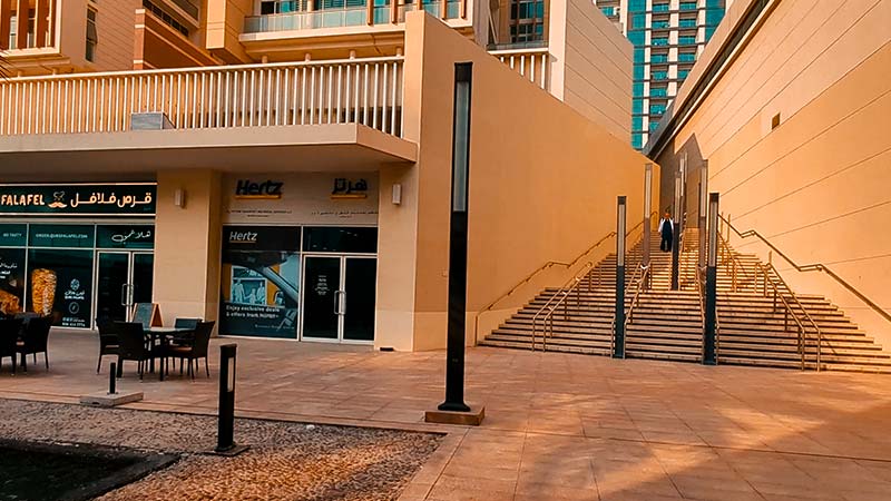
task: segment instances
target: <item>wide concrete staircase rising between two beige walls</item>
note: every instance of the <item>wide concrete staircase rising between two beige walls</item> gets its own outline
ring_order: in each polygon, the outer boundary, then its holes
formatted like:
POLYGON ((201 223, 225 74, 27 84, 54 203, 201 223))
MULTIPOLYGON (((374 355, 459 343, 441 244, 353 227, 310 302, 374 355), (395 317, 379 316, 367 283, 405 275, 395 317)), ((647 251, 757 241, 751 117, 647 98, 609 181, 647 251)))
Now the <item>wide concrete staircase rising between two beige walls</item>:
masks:
MULTIPOLYGON (((628 357, 702 361, 703 316, 695 282, 698 235, 693 228, 687 229, 684 237, 679 291, 669 289, 672 254, 658 249, 658 235, 654 233, 650 238, 652 288, 640 293, 631 311, 626 332, 628 357)), ((639 263, 640 246, 638 242, 626 259, 626 312, 637 291, 636 285, 628 281, 639 263)), ((817 295, 796 294, 797 302, 793 301, 792 292, 770 267, 766 269, 771 294, 765 297, 763 273, 755 273, 765 268, 758 258, 736 253, 730 247, 727 250, 726 257, 718 263, 717 274, 719 364, 802 367, 797 325, 782 305, 774 305, 770 283, 775 283, 795 316, 805 324, 805 369, 817 366, 816 328, 810 321, 805 322, 806 312, 821 333, 820 369, 891 373, 891 354, 862 332, 838 306, 817 295)), ((572 291, 555 313, 554 327, 547 340, 542 340, 539 320, 535 340, 537 350, 544 347, 557 352, 611 354, 615 267, 615 255, 607 256, 595 266, 581 282, 582 286, 572 291)), ((531 350, 533 317, 558 293, 557 288, 542 291, 481 344, 531 350)))

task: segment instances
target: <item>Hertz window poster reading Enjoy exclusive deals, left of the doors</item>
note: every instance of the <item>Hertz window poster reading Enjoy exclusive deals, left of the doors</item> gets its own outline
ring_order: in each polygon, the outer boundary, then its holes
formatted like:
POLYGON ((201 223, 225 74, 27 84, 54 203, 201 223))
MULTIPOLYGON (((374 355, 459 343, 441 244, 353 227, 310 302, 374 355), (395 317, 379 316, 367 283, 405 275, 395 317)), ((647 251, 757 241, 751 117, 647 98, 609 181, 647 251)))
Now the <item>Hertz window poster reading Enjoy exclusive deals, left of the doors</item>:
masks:
POLYGON ((295 338, 300 228, 226 226, 223 232, 219 332, 295 338))

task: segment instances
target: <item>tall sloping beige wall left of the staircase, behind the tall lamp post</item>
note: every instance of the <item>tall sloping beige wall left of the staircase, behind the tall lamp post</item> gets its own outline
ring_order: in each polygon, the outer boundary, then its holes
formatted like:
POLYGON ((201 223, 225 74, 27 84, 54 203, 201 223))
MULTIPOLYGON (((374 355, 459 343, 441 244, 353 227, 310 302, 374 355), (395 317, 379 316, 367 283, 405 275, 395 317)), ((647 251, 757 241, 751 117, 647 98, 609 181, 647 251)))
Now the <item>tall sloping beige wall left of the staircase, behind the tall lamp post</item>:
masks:
MULTIPOLYGON (((411 348, 446 344, 453 65, 472 61, 468 342, 473 343, 476 311, 547 261, 570 261, 614 229, 617 195, 628 195, 628 220, 640 219, 646 159, 422 13, 407 21, 405 56, 404 136, 421 147, 414 170, 400 177, 403 196, 411 198, 399 210, 417 207, 417 218, 395 224, 381 209, 379 308, 386 311, 379 315, 379 342, 404 340, 398 330, 411 324, 411 348), (402 256, 384 255, 396 245, 388 242, 392 235, 399 236, 402 256), (399 282, 384 285, 404 259, 414 261, 413 276, 402 273, 399 282), (404 287, 413 287, 413 295, 404 287), (380 321, 388 316, 392 321, 380 321)), ((382 175, 382 190, 386 180, 382 175)), ((566 274, 549 279, 562 282, 566 274)), ((502 316, 528 298, 517 295, 500 305, 502 316)))

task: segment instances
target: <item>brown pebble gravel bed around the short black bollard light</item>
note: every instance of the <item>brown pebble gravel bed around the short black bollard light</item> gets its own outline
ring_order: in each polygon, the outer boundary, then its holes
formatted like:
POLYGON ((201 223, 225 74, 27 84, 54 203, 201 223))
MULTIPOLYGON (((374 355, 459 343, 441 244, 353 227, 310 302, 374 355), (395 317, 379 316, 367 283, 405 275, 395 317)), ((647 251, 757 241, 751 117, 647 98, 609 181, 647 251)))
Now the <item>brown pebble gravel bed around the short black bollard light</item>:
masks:
POLYGON ((182 454, 99 498, 117 500, 394 500, 441 435, 235 420, 235 458, 207 455, 216 418, 0 399, 0 436, 182 454))

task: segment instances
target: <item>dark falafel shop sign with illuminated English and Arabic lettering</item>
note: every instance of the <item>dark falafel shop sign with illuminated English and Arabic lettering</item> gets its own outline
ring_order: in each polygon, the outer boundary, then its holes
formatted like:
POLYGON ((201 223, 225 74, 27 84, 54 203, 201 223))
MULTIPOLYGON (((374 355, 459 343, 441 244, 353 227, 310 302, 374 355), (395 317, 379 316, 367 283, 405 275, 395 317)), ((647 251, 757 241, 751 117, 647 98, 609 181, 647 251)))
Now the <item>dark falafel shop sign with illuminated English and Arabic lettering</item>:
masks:
POLYGON ((0 185, 0 215, 154 216, 155 183, 0 185))

